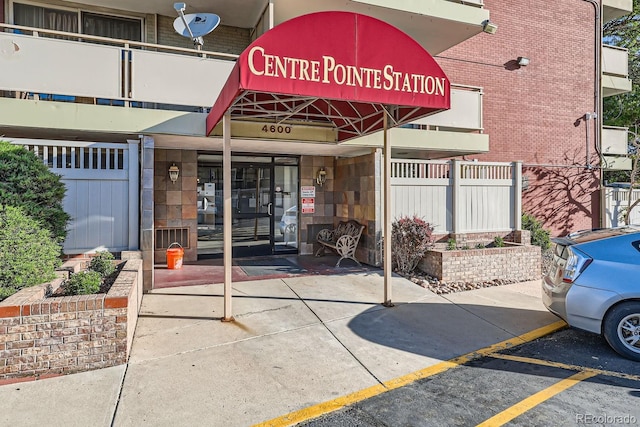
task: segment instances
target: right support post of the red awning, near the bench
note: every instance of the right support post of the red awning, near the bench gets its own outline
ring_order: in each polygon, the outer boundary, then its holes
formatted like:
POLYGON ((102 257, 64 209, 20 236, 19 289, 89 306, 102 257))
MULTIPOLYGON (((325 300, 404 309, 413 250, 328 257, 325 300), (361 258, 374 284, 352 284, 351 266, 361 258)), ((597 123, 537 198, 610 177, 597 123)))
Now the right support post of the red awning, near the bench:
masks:
POLYGON ((393 307, 391 302, 391 144, 389 143, 389 120, 386 108, 383 112, 383 134, 384 134, 384 215, 382 217, 384 239, 383 270, 384 270, 384 302, 385 307, 393 307))

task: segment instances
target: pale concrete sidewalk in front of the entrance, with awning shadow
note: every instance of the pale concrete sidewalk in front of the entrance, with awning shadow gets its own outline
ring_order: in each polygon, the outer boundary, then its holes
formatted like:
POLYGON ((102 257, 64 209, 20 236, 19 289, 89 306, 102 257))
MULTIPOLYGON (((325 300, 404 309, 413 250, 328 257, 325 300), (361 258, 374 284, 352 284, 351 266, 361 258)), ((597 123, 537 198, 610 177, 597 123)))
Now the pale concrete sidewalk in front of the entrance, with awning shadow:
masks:
POLYGON ((12 426, 249 426, 557 322, 540 283, 437 296, 378 273, 222 284, 143 298, 127 366, 0 386, 12 426))

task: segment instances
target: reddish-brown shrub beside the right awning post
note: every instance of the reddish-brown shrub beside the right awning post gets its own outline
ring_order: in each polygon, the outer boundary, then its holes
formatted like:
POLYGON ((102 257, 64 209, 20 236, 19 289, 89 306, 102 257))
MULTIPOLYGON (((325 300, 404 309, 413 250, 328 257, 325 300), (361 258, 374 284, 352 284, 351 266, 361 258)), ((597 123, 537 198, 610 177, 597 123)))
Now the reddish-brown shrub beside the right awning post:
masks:
POLYGON ((401 274, 411 273, 431 246, 433 227, 413 216, 391 225, 391 264, 401 274))

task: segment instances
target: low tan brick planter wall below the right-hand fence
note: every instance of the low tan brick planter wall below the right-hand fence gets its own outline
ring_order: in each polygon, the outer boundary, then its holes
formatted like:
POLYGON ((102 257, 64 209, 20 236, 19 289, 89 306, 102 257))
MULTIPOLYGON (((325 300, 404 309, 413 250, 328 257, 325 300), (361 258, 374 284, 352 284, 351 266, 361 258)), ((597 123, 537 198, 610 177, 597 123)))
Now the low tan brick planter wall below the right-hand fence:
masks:
POLYGON ((483 282, 495 279, 527 281, 541 276, 539 246, 427 252, 419 268, 444 282, 483 282))

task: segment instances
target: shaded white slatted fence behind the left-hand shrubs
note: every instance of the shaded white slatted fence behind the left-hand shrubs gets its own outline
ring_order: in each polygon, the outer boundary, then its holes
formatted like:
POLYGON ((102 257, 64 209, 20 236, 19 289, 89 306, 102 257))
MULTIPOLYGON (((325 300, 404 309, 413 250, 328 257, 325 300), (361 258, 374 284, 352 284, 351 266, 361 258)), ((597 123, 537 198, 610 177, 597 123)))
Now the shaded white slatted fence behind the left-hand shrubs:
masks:
POLYGON ((138 249, 138 143, 11 139, 62 176, 65 254, 138 249))

